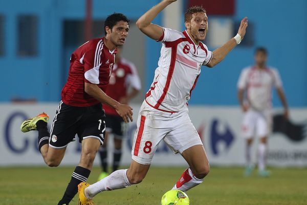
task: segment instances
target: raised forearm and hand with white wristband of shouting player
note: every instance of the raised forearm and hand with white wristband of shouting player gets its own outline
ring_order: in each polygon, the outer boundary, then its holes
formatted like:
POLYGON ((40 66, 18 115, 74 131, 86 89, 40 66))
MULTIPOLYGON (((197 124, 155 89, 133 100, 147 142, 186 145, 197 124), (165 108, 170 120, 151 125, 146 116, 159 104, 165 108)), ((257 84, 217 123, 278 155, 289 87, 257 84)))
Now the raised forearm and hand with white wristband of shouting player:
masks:
POLYGON ((207 65, 208 67, 212 68, 213 66, 215 66, 216 64, 220 63, 225 57, 226 55, 236 46, 238 45, 241 40, 244 38, 245 36, 245 32, 246 32, 246 27, 248 26, 247 23, 247 17, 244 17, 241 20, 241 24, 240 27, 238 29, 238 34, 231 38, 226 44, 224 44, 222 47, 217 48, 213 51, 213 56, 212 59, 210 61, 210 63, 207 65))

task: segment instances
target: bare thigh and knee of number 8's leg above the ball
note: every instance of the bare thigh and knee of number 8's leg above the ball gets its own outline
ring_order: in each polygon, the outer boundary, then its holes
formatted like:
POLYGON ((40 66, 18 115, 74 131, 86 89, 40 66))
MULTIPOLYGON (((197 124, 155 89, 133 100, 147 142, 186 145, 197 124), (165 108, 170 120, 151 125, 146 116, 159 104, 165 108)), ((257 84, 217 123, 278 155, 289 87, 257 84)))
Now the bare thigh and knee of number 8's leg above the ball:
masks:
POLYGON ((182 153, 193 174, 198 178, 205 177, 210 170, 209 160, 202 145, 195 145, 182 153))

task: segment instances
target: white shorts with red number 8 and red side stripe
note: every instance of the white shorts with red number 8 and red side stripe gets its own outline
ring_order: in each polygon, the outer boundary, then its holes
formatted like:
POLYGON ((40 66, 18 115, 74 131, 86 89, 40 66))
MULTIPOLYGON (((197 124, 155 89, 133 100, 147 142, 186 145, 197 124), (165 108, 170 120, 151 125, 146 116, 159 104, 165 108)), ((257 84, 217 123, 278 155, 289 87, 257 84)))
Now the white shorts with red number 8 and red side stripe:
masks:
POLYGON ((144 101, 133 140, 132 159, 149 165, 162 139, 174 153, 180 154, 192 146, 203 145, 187 110, 168 113, 156 110, 144 101))

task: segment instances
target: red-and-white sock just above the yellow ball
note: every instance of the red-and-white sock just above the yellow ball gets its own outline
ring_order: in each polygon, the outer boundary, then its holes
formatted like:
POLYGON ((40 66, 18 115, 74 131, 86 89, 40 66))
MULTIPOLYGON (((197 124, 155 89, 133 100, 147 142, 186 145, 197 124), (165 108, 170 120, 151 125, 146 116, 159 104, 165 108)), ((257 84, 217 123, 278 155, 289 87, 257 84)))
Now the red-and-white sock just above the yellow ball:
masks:
POLYGON ((191 169, 186 169, 172 189, 179 189, 181 191, 188 191, 189 189, 198 186, 204 179, 198 179, 194 176, 191 169))

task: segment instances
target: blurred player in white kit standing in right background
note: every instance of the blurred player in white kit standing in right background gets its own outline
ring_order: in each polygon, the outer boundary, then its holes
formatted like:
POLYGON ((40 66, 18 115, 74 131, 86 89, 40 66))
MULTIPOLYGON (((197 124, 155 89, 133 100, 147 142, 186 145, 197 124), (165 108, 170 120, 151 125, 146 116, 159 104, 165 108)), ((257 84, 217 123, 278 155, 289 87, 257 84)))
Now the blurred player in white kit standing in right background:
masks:
POLYGON ((253 137, 259 137, 258 175, 268 177, 266 170, 267 141, 272 127, 272 87, 277 90, 284 108, 284 117, 288 118, 287 100, 282 90, 278 71, 266 65, 267 50, 257 48, 255 65, 243 69, 238 79, 238 99, 244 112, 242 132, 246 138, 246 169, 245 175, 253 171, 251 145, 253 137), (246 92, 246 100, 244 93, 246 92))

